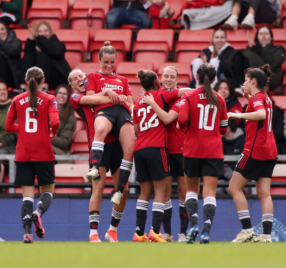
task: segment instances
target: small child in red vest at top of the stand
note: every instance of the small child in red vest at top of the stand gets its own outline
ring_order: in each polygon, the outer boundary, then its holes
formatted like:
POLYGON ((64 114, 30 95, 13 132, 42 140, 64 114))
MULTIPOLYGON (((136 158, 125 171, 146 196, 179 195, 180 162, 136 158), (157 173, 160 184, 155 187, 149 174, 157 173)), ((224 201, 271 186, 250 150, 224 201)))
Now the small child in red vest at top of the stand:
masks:
POLYGON ((174 13, 174 9, 170 8, 165 0, 152 0, 150 7, 150 15, 153 19, 152 29, 170 28, 170 18, 174 13))

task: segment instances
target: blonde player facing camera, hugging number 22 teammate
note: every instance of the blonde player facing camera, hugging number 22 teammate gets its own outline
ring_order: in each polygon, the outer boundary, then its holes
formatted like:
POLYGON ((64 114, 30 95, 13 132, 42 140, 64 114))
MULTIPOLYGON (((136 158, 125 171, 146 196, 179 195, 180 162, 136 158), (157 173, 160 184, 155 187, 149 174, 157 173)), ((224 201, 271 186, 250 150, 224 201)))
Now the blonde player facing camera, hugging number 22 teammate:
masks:
MULTIPOLYGON (((178 82, 178 70, 174 66, 167 66, 162 72, 162 85, 164 89, 176 89, 178 82)), ((180 216, 180 233, 178 234, 178 242, 184 242, 186 239, 186 230, 188 228, 188 216, 186 209, 186 184, 184 178, 183 169, 183 145, 185 139, 185 131, 178 130, 176 123, 179 115, 180 100, 174 100, 170 103, 168 113, 161 109, 154 101, 152 94, 145 96, 144 101, 146 104, 151 105, 152 109, 158 115, 158 117, 167 125, 167 151, 170 157, 170 172, 171 179, 168 184, 168 190, 166 193, 165 210, 163 216, 163 227, 165 233, 162 237, 168 241, 173 241, 171 235, 171 217, 172 217, 172 203, 171 203, 171 190, 172 179, 177 178, 178 194, 180 199, 179 204, 179 216, 180 216)))

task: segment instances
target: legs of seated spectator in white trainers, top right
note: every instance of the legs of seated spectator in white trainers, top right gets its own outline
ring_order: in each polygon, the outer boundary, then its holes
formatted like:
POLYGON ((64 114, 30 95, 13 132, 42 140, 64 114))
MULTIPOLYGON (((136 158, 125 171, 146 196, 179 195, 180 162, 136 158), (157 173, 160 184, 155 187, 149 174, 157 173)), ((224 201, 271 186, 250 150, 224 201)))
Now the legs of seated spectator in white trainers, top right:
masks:
POLYGON ((255 23, 276 23, 279 25, 282 4, 285 0, 236 0, 231 16, 223 24, 225 29, 254 29, 255 23), (276 21, 276 22, 275 22, 276 21))

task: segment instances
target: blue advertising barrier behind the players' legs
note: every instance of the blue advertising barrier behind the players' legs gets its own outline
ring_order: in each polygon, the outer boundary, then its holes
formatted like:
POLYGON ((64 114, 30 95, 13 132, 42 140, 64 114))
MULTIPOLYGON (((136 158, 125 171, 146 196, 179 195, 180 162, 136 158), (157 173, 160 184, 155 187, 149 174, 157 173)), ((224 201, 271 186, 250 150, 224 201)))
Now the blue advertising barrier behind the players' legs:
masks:
MULTIPOLYGON (((124 209, 124 215, 118 227, 118 240, 131 241, 136 229, 136 201, 128 199, 124 209)), ((147 212, 147 222, 145 232, 151 228, 152 220, 152 201, 150 200, 147 212)), ((1 198, 0 215, 0 240, 22 241, 23 225, 20 217, 22 198, 1 198)), ((34 241, 88 241, 89 222, 88 222, 88 203, 89 198, 54 198, 51 207, 42 217, 45 228, 44 239, 38 239, 33 235, 34 241)), ((249 199, 249 212, 251 223, 256 234, 261 234, 261 204, 259 200, 249 199)), ((286 219, 285 219, 285 199, 275 199, 274 221, 272 229, 272 241, 286 241, 286 219)), ((34 201, 34 207, 37 199, 34 201)), ((199 228, 202 230, 202 205, 203 200, 199 199, 199 228)), ((179 200, 172 199, 172 235, 174 241, 180 233, 179 200)), ((109 228, 112 213, 110 199, 102 199, 100 218, 98 225, 99 237, 104 241, 104 235, 109 228)), ((237 210, 232 199, 217 199, 217 211, 210 232, 211 241, 231 241, 241 231, 241 223, 238 218, 237 210)), ((161 229, 163 232, 163 229, 161 229)), ((34 233, 34 231, 33 231, 34 233)))

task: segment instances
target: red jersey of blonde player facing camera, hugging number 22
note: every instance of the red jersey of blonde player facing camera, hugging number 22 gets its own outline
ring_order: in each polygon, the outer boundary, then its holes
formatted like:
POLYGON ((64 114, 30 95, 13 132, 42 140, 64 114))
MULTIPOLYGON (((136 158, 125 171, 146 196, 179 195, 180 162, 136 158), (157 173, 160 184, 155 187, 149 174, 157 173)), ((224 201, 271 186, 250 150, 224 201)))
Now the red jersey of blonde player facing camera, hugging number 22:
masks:
MULTIPOLYGON (((169 111, 173 110, 179 113, 180 99, 172 101, 169 105, 169 111)), ((177 119, 167 125, 167 151, 168 153, 183 153, 185 130, 177 129, 177 119)))

